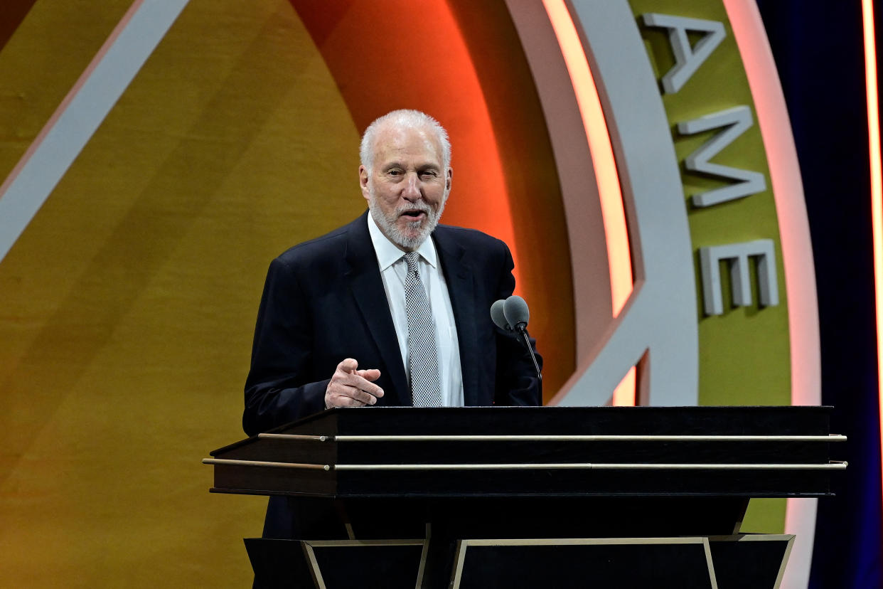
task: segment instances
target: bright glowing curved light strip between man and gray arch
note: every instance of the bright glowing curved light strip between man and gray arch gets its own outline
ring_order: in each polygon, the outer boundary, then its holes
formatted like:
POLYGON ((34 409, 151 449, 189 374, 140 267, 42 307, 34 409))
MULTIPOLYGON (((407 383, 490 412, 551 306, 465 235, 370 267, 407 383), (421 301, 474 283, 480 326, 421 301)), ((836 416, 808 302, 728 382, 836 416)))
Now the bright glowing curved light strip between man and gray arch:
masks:
MULTIPOLYGON (((583 119, 585 138, 589 142, 589 152, 592 155, 592 165, 598 183, 604 234, 607 238, 612 312, 616 317, 622 312, 634 289, 634 279, 631 275, 631 252, 623 208, 623 191, 619 184, 619 174, 616 172, 610 133, 583 44, 579 41, 577 27, 573 24, 567 6, 564 5, 563 0, 543 0, 543 6, 546 8, 558 45, 561 47, 564 64, 567 65, 577 97, 579 114, 583 119)), ((623 381, 617 385, 613 394, 613 404, 635 404, 635 376, 636 371, 632 367, 623 381)))

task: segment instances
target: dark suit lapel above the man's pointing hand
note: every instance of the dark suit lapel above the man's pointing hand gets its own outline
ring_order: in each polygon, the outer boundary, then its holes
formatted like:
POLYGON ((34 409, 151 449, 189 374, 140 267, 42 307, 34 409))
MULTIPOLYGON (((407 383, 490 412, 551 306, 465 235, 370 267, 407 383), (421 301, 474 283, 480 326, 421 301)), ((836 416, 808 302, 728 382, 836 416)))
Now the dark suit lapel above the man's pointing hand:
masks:
POLYGON ((389 313, 389 302, 383 290, 380 268, 377 267, 377 255, 374 253, 374 245, 368 233, 367 213, 350 224, 347 235, 346 282, 350 286, 358 310, 362 313, 362 320, 366 322, 368 333, 371 334, 374 344, 380 351, 381 359, 389 371, 387 376, 392 382, 392 391, 384 389, 387 396, 383 397, 383 404, 410 405, 411 395, 408 394, 402 351, 398 348, 396 327, 389 313), (390 392, 397 398, 389 397, 390 392))

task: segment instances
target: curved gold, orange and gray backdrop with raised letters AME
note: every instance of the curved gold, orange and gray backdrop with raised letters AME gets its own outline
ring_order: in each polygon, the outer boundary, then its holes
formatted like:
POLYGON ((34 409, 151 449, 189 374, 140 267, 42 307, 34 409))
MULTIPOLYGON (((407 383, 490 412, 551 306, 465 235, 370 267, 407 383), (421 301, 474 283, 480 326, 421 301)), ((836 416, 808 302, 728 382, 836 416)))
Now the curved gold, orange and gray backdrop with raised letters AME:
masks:
MULTIPOLYGON (((208 495, 200 458, 243 436, 269 261, 363 210, 358 138, 390 109, 449 131, 443 221, 509 243, 547 403, 819 403, 753 2, 8 4, 0 577, 250 582, 265 502, 208 495)), ((814 517, 751 504, 750 530, 802 530, 790 586, 814 517)))

